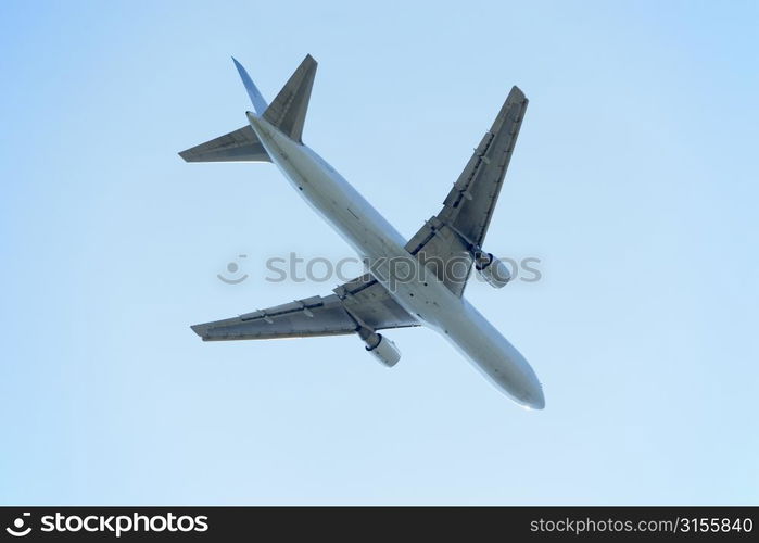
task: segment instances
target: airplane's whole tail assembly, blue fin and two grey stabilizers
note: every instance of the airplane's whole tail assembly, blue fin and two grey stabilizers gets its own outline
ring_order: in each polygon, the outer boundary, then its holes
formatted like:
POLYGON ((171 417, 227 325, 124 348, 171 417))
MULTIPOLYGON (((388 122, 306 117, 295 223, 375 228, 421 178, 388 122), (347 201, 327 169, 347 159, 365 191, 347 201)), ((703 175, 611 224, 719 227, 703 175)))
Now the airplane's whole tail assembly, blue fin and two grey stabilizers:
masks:
MULTIPOLYGON (((303 143, 303 124, 308 111, 316 61, 308 54, 292 74, 271 104, 267 104, 245 68, 232 58, 255 112, 282 134, 303 143)), ((187 149, 179 153, 187 162, 271 162, 266 149, 248 126, 187 149)))

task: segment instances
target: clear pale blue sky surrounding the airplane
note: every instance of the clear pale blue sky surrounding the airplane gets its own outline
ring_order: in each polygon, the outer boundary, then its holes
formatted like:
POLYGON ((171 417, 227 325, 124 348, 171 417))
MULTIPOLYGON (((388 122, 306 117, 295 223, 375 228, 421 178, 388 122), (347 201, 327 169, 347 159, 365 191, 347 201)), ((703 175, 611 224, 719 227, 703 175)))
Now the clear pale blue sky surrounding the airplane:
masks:
POLYGON ((0 503, 759 502, 759 8, 714 2, 0 3, 0 503), (468 299, 544 412, 428 330, 202 343, 327 294, 351 250, 268 164, 176 152, 319 70, 304 140, 404 236, 511 85, 530 108, 468 299), (246 254, 242 260, 239 254, 246 254), (216 277, 227 263, 249 279, 216 277))

